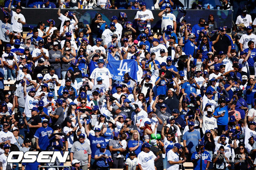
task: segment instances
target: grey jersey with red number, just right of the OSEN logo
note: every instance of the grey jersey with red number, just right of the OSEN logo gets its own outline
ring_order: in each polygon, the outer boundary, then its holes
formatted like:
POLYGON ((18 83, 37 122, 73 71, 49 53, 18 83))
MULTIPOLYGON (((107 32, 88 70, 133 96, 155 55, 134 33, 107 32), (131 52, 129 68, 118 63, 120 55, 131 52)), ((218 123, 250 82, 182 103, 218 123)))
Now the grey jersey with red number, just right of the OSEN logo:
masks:
POLYGON ((73 159, 81 161, 81 166, 88 164, 88 155, 91 155, 91 148, 86 141, 83 143, 79 141, 74 142, 70 152, 73 153, 73 159))

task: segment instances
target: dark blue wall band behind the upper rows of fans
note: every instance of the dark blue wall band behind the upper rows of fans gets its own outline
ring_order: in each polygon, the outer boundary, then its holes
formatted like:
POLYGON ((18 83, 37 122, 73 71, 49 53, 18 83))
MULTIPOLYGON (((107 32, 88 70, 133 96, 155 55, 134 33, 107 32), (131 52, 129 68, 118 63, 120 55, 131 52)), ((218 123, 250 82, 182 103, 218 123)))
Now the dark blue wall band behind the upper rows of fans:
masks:
MULTIPOLYGON (((95 17, 96 13, 101 13, 103 20, 105 20, 108 25, 111 22, 111 16, 116 15, 118 17, 120 12, 126 13, 127 21, 131 22, 136 15, 136 10, 131 9, 61 9, 61 13, 65 10, 75 12, 78 21, 83 22, 84 24, 91 24, 91 20, 95 17)), ((154 22, 151 23, 151 27, 154 32, 158 32, 161 29, 161 18, 158 17, 158 13, 162 10, 151 11, 154 15, 154 22)), ((53 19, 56 22, 55 26, 58 27, 61 24, 61 21, 58 19, 57 12, 58 9, 23 9, 22 14, 26 18, 26 25, 24 25, 24 27, 28 25, 37 26, 39 21, 45 22, 45 25, 47 26, 48 24, 46 20, 48 19, 53 19)), ((186 12, 185 19, 187 20, 187 23, 190 23, 192 26, 198 24, 200 18, 204 18, 208 21, 208 16, 212 14, 218 26, 232 28, 232 10, 186 10, 186 12)), ((180 18, 184 15, 184 13, 178 10, 173 10, 173 14, 176 16, 177 23, 179 23, 180 18)), ((2 15, 3 13, 0 13, 0 18, 2 18, 2 15)), ((24 28, 24 30, 26 30, 26 28, 24 28)))

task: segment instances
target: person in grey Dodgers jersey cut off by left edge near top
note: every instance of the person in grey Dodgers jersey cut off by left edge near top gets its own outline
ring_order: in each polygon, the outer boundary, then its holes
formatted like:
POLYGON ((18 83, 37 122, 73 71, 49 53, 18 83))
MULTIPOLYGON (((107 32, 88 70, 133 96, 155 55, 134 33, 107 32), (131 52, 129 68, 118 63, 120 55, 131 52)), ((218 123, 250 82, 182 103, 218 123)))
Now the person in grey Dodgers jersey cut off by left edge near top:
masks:
POLYGON ((13 35, 13 27, 8 23, 9 15, 3 16, 3 19, 0 20, 0 25, 4 25, 4 27, 0 28, 0 39, 2 44, 0 44, 0 56, 3 54, 3 49, 6 51, 6 45, 10 42, 10 36, 13 35))

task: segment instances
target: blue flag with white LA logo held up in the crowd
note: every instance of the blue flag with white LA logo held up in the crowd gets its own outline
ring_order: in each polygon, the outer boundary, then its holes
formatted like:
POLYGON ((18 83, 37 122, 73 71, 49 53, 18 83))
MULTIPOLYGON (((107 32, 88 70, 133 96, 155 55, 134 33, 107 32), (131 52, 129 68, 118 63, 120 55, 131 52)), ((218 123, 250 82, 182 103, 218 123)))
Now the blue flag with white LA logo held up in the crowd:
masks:
POLYGON ((108 62, 107 68, 114 80, 122 81, 124 73, 129 73, 130 77, 137 81, 138 63, 135 60, 112 60, 108 62))

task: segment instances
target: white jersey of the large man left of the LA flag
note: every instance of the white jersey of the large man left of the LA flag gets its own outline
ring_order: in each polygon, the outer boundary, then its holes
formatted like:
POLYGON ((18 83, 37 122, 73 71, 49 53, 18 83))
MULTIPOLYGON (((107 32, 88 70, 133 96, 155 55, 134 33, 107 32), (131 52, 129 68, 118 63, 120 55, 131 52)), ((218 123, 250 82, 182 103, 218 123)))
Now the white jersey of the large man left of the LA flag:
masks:
POLYGON ((108 68, 103 67, 103 68, 95 68, 93 70, 93 72, 91 73, 90 79, 94 79, 94 85, 97 84, 96 79, 98 77, 102 77, 104 78, 104 80, 102 80, 103 84, 106 84, 107 87, 109 87, 109 79, 112 79, 111 77, 111 73, 108 70, 108 68))

